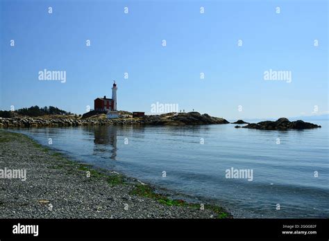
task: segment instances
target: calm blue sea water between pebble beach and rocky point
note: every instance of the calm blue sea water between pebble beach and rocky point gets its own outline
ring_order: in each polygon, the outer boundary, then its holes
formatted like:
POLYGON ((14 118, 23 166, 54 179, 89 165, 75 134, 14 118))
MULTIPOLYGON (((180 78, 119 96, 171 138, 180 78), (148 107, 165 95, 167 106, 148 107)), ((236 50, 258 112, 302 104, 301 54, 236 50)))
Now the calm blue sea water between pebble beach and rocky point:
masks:
POLYGON ((322 128, 282 132, 228 124, 19 132, 43 145, 51 138, 52 148, 78 161, 225 206, 235 217, 329 217, 328 121, 312 122, 322 128), (230 168, 252 169, 253 181, 227 179, 230 168))

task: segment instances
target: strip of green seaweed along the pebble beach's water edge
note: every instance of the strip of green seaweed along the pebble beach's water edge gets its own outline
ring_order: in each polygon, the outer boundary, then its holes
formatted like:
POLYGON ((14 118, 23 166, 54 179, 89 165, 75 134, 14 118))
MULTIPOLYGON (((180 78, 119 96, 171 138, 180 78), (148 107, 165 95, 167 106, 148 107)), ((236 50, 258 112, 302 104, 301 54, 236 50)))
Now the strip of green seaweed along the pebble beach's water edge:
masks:
MULTIPOLYGON (((130 191, 130 195, 138 195, 140 197, 151 198, 160 204, 167 205, 167 206, 185 206, 188 208, 195 208, 201 209, 201 204, 196 203, 189 203, 185 202, 183 199, 170 199, 167 195, 163 195, 158 193, 155 188, 149 186, 147 184, 135 184, 128 181, 127 177, 118 173, 108 173, 106 170, 97 170, 90 164, 85 163, 78 163, 74 160, 67 159, 67 157, 60 153, 48 148, 47 146, 41 145, 34 141, 33 139, 29 138, 24 134, 19 134, 15 132, 7 132, 0 130, 0 143, 7 143, 12 140, 21 141, 21 142, 30 142, 32 143, 33 147, 41 150, 42 152, 46 152, 50 154, 54 159, 58 161, 58 163, 53 163, 50 167, 51 169, 59 169, 62 170, 65 166, 69 166, 70 169, 76 169, 80 172, 85 172, 85 175, 90 175, 90 180, 92 179, 106 179, 110 186, 118 186, 118 185, 130 185, 133 189, 130 191)), ((216 217, 219 219, 222 218, 233 218, 233 216, 225 211, 220 206, 214 206, 210 204, 203 204, 204 209, 212 210, 216 213, 216 217)))

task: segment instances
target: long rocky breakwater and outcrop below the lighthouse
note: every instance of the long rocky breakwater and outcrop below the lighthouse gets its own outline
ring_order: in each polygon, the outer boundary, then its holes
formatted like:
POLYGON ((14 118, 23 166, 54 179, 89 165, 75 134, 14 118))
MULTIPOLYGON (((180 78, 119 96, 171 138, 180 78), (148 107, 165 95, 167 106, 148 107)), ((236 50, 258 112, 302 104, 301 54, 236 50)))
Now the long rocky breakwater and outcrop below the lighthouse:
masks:
POLYGON ((0 127, 69 127, 78 125, 210 125, 227 124, 223 118, 199 112, 169 113, 140 118, 0 118, 0 127))

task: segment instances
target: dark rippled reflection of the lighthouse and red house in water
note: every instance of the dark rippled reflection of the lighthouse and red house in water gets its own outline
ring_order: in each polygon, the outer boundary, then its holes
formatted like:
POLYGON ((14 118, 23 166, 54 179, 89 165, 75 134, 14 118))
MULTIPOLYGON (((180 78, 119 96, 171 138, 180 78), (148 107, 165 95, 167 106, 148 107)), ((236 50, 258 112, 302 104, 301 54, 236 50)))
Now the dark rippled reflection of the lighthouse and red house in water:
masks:
MULTIPOLYGON (((115 160, 117 157, 117 127, 115 126, 95 126, 94 127, 94 143, 96 145, 108 145, 112 146, 110 152, 110 159, 115 160)), ((99 151, 99 150, 98 150, 99 151)), ((101 150, 103 152, 108 149, 101 150)))

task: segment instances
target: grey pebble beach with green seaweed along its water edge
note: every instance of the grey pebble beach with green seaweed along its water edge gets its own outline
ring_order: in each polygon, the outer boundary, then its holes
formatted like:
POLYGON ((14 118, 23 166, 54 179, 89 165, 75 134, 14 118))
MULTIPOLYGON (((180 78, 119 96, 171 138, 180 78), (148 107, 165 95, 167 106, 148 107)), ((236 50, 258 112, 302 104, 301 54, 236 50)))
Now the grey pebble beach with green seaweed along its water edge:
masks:
POLYGON ((78 163, 24 134, 0 130, 0 218, 233 218, 220 206, 171 198, 117 172, 78 163))

